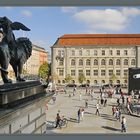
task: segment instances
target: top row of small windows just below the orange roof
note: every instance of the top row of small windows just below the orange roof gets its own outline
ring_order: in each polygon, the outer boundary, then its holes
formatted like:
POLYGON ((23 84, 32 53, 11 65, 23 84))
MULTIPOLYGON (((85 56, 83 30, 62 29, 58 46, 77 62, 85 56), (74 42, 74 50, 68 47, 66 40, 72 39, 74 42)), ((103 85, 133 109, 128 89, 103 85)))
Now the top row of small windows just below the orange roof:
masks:
MULTIPOLYGON (((94 56, 97 56, 99 54, 99 50, 78 50, 78 53, 80 56, 83 55, 83 51, 86 53, 87 56, 90 55, 90 51, 93 52, 93 55, 94 56)), ((125 55, 127 56, 128 55, 128 50, 115 50, 116 52, 114 53, 114 50, 101 50, 101 55, 105 56, 105 55, 125 55), (108 52, 107 52, 108 51, 108 52)), ((61 55, 64 55, 64 50, 58 50, 58 55, 61 56, 61 55)), ((72 56, 75 56, 77 55, 76 54, 76 51, 75 50, 71 50, 71 55, 72 56)), ((131 55, 135 55, 135 50, 131 50, 131 55)))

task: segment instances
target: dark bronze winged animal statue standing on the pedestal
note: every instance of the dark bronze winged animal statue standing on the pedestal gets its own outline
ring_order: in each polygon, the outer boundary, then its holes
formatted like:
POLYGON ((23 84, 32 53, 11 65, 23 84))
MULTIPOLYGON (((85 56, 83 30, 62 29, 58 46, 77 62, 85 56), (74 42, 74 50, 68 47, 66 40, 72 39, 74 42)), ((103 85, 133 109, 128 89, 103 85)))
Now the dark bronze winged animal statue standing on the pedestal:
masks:
MULTIPOLYGON (((25 25, 20 22, 12 22, 7 17, 0 17, 0 28, 4 34, 3 43, 0 44, 0 48, 5 50, 0 50, 0 64, 1 64, 1 76, 4 83, 11 83, 12 81, 8 79, 8 64, 13 67, 17 81, 25 81, 21 78, 23 65, 32 53, 32 43, 28 38, 20 37, 15 39, 13 30, 24 30, 30 31, 25 25), (2 65, 4 63, 5 66, 2 65)), ((1 31, 1 32, 2 32, 1 31)))

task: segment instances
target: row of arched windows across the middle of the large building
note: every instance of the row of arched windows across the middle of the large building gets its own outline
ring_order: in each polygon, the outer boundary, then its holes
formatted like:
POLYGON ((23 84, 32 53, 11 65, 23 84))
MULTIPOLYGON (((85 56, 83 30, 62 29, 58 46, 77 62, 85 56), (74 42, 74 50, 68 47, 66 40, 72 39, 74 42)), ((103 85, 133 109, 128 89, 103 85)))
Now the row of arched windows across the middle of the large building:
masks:
MULTIPOLYGON (((83 60, 80 59, 79 60, 79 66, 83 66, 83 60)), ((93 62, 93 65, 98 65, 98 60, 95 59, 94 62, 93 62)), ((108 65, 114 65, 115 62, 112 60, 112 59, 109 59, 108 61, 108 65)), ((124 59, 123 60, 123 64, 124 65, 128 65, 128 60, 127 59, 124 59)), ((63 60, 59 60, 59 66, 63 66, 64 65, 64 61, 63 60)), ((76 65, 76 60, 75 59, 72 59, 71 60, 71 66, 75 66, 76 65)), ((86 66, 90 66, 91 65, 91 60, 90 59, 87 59, 86 60, 86 66)), ((106 65, 106 60, 105 59, 102 59, 101 60, 101 65, 106 65)), ((121 65, 121 60, 120 59, 117 59, 116 60, 116 65, 121 65)), ((131 60, 131 65, 136 65, 136 60, 135 59, 132 59, 131 60)))

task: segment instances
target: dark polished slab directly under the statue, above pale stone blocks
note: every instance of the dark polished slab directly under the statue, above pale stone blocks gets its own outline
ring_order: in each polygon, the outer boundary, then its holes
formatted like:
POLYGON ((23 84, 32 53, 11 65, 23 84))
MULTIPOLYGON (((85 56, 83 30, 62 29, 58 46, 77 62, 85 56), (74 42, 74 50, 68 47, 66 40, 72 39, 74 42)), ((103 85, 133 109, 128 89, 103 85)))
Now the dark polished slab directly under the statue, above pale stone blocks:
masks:
POLYGON ((45 95, 45 87, 40 81, 0 85, 0 108, 12 108, 45 95))

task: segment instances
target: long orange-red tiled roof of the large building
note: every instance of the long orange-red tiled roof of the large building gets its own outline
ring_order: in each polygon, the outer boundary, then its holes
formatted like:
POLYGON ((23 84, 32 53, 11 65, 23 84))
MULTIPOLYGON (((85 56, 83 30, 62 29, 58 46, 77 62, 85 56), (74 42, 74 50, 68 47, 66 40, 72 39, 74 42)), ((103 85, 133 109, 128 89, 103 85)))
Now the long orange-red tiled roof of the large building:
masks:
POLYGON ((54 45, 140 45, 140 34, 65 34, 54 45))

